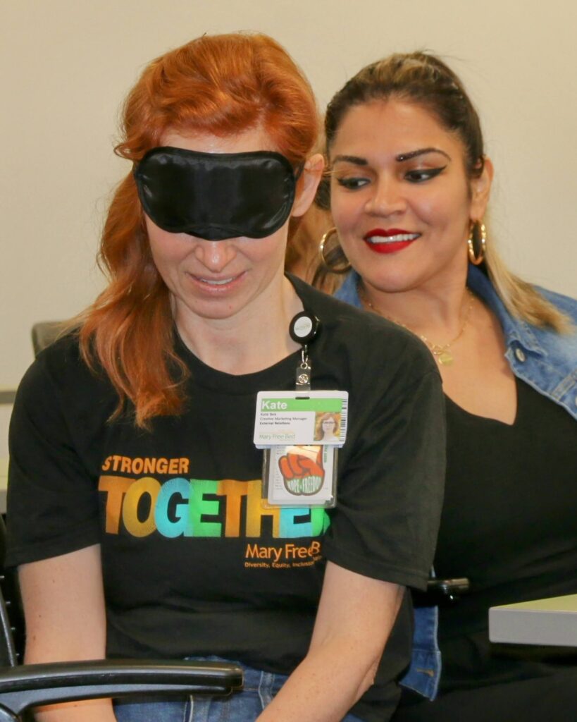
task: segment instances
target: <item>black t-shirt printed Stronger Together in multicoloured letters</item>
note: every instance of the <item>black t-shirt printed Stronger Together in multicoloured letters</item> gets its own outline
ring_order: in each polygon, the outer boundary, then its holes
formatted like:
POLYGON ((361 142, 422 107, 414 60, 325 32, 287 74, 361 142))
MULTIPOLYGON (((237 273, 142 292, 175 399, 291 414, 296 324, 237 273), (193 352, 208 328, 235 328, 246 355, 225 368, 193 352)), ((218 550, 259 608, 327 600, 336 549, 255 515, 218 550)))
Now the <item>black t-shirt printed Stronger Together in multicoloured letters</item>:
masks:
MULTIPOLYGON (((74 336, 28 370, 10 430, 8 563, 100 543, 110 656, 216 654, 290 673, 307 653, 325 559, 423 588, 444 478, 439 374, 412 334, 294 280, 322 323, 312 388, 349 392, 338 504, 265 509, 252 443, 257 391, 291 390, 299 354, 258 373, 190 368, 188 407, 149 432, 79 358, 74 336)), ((266 329, 263 329, 266 333, 266 329)), ((410 656, 403 604, 377 682, 356 705, 387 718, 410 656), (372 706, 371 706, 372 705, 372 706)))

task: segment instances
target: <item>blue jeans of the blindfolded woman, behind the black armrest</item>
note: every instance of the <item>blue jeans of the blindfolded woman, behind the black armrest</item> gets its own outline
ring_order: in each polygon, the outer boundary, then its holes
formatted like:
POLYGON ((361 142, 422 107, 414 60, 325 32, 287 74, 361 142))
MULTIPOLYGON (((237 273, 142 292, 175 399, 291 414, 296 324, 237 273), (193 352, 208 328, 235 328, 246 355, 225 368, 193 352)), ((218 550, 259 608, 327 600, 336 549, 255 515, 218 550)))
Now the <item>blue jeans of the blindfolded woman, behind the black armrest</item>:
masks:
MULTIPOLYGON (((207 659, 219 659, 208 657, 207 659)), ((220 660, 230 661, 230 660, 220 660)), ((234 664, 239 664, 235 662, 234 664)), ((239 664, 245 672, 242 692, 229 697, 196 695, 185 700, 118 700, 114 712, 118 722, 255 722, 286 682, 286 674, 273 674, 239 664)), ((351 714, 343 722, 362 722, 351 714)))

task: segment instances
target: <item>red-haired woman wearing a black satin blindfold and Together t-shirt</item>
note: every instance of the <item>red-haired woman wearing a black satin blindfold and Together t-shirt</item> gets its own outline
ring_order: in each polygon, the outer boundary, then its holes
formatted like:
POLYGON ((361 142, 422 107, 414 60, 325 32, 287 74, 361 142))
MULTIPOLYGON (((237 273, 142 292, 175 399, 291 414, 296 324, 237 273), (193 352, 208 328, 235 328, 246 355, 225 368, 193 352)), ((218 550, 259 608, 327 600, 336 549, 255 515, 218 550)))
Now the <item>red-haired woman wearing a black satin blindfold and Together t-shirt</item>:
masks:
POLYGON ((317 132, 309 84, 264 35, 193 40, 128 96, 108 285, 14 407, 8 563, 26 661, 216 656, 242 664, 245 689, 48 707, 43 722, 376 722, 395 708, 404 588, 426 585, 439 521, 441 386, 410 334, 283 274, 289 217, 322 172, 317 132), (277 422, 289 405, 304 410, 277 422), (317 442, 313 464, 293 437, 307 448, 327 409, 348 427, 338 458, 317 442))

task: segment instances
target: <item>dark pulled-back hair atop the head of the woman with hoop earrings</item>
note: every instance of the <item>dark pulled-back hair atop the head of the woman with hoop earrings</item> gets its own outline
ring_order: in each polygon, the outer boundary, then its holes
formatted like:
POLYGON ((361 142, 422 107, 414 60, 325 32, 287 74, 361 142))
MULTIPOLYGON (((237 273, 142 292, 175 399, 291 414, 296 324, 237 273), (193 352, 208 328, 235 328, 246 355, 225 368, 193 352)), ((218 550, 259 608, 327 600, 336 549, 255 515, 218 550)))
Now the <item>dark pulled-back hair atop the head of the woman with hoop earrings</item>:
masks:
POLYGON ((433 113, 447 131, 461 139, 467 175, 474 178, 483 172, 483 133, 470 97, 449 66, 421 51, 394 53, 371 63, 337 92, 325 116, 327 150, 348 110, 389 98, 421 105, 433 113))

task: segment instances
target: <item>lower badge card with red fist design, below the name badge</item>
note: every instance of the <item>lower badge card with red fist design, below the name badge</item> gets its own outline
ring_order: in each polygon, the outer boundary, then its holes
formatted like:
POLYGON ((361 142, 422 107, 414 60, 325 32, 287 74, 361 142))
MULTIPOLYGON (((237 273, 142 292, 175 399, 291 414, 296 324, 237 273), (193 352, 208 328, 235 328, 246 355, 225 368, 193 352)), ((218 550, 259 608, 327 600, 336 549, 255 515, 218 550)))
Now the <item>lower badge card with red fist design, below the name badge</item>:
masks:
POLYGON ((334 445, 281 445, 265 449, 263 506, 334 507, 337 455, 334 445))

